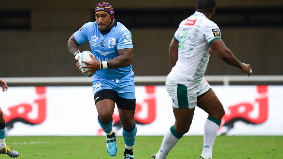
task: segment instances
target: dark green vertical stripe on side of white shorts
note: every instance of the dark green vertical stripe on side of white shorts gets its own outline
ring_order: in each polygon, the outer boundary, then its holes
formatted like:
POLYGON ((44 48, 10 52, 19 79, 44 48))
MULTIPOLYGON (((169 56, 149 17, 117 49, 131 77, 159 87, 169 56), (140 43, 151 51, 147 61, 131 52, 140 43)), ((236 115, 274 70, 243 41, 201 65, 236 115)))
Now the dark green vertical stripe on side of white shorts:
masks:
POLYGON ((177 99, 179 108, 189 108, 187 87, 178 83, 177 99))

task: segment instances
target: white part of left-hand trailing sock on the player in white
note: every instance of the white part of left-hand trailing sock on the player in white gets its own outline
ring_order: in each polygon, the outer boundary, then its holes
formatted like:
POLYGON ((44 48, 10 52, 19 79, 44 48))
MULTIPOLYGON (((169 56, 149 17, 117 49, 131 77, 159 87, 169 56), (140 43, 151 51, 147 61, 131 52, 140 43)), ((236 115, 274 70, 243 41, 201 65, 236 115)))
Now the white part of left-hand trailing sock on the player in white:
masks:
POLYGON ((167 131, 164 135, 160 150, 156 154, 155 159, 165 159, 169 151, 176 145, 178 140, 179 139, 172 134, 171 130, 167 131))

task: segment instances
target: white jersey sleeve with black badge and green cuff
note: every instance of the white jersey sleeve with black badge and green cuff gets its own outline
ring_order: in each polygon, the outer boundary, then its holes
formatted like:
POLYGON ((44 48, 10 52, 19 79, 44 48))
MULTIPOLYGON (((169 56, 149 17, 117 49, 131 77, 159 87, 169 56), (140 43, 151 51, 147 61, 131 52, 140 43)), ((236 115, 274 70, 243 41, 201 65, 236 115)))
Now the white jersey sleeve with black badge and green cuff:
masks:
POLYGON ((208 22, 203 27, 203 37, 208 42, 208 44, 211 44, 216 39, 221 39, 221 32, 219 27, 212 21, 208 22))

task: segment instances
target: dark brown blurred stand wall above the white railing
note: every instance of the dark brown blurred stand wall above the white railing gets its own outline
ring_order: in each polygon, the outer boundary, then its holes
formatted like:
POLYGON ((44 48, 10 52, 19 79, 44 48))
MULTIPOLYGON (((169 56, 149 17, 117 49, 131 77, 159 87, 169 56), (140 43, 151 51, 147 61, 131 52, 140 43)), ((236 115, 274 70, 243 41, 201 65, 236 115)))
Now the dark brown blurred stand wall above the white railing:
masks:
MULTIPOLYGON (((1 0, 0 77, 83 76, 68 51, 69 37, 95 21, 97 0, 1 0)), ((136 76, 167 75, 168 46, 196 0, 107 1, 133 37, 136 76)), ((226 46, 253 75, 282 75, 283 1, 218 0, 213 21, 226 46)), ((90 50, 88 42, 80 51, 90 50)), ((212 53, 206 75, 245 75, 212 53)))

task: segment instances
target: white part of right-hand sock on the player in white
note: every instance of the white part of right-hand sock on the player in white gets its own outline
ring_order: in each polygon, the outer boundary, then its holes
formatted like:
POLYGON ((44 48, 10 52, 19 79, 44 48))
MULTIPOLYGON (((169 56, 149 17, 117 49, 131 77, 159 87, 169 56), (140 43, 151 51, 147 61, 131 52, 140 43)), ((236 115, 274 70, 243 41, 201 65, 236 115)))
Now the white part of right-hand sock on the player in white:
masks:
POLYGON ((205 121, 204 136, 203 136, 203 152, 201 153, 201 157, 212 159, 212 149, 215 138, 217 136, 218 129, 219 129, 219 125, 217 125, 215 122, 209 119, 205 121))

